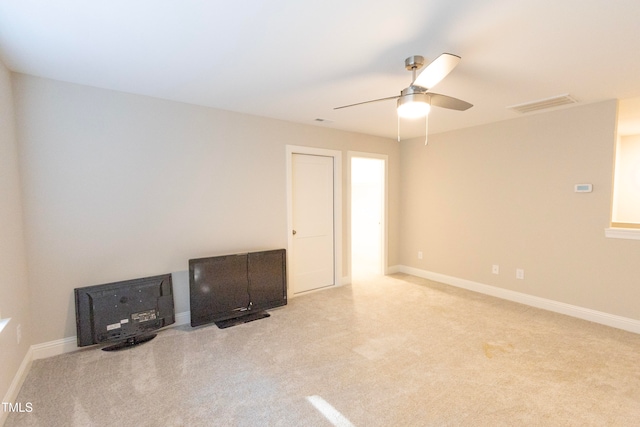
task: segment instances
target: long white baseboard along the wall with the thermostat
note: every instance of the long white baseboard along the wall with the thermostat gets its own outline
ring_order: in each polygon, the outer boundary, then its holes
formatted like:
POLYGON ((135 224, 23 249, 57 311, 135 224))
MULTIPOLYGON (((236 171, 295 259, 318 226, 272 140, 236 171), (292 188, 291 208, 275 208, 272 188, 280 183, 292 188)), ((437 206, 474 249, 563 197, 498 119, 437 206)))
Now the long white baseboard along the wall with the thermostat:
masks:
POLYGON ((422 277, 424 279, 433 280, 435 282, 456 286, 458 288, 467 289, 485 295, 491 295, 508 301, 513 301, 531 307, 541 308, 544 310, 553 311, 555 313, 565 314, 567 316, 576 317, 578 319, 588 320, 590 322, 599 323, 601 325, 611 326, 614 328, 640 334, 640 320, 617 316, 615 314, 596 311, 589 308, 566 304, 546 298, 540 298, 534 295, 511 291, 509 289, 498 288, 496 286, 485 285, 483 283, 473 282, 471 280, 460 279, 458 277, 447 276, 440 273, 434 273, 431 271, 408 267, 406 265, 397 265, 394 267, 390 267, 389 271, 411 274, 412 276, 422 277))

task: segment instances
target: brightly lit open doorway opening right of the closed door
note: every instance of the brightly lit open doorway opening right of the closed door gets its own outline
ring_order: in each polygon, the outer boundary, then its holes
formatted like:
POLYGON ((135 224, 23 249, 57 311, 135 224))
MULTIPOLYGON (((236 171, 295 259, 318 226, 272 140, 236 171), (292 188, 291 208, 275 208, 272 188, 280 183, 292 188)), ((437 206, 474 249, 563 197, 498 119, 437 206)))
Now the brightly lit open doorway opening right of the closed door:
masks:
POLYGON ((351 275, 383 275, 386 264, 386 157, 353 153, 351 166, 351 275))

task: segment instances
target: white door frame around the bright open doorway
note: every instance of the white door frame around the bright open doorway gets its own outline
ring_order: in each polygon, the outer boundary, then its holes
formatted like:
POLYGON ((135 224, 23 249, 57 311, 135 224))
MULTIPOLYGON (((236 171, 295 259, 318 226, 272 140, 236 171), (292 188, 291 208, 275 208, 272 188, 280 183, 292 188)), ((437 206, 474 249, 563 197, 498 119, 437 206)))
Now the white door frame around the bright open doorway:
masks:
POLYGON ((380 262, 382 264, 382 274, 388 274, 388 241, 389 241, 389 227, 388 227, 388 199, 389 199, 389 156, 386 154, 378 154, 378 153, 366 153, 362 151, 347 151, 347 218, 349 224, 349 239, 347 240, 347 262, 349 263, 349 277, 347 278, 348 282, 351 283, 351 274, 352 274, 352 259, 351 259, 351 160, 356 158, 364 158, 364 159, 377 159, 382 160, 384 163, 384 188, 382 194, 382 218, 380 220, 380 250, 381 258, 380 262))

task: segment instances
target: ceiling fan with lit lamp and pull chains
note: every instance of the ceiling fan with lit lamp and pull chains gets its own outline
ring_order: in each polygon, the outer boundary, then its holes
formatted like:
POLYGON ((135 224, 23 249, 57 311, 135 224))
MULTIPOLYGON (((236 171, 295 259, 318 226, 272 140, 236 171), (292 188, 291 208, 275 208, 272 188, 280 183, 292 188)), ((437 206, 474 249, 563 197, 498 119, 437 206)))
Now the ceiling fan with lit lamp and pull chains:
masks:
POLYGON ((461 99, 453 98, 439 93, 429 92, 429 89, 437 85, 445 78, 460 62, 458 55, 443 53, 430 62, 424 70, 417 71, 424 65, 424 57, 420 55, 410 56, 404 60, 405 68, 412 72, 413 81, 409 87, 403 89, 400 95, 389 96, 387 98, 373 99, 370 101, 358 102, 356 104, 343 105, 334 110, 354 107, 356 105, 368 104, 371 102, 397 100, 398 105, 398 141, 400 140, 400 117, 414 119, 425 117, 429 114, 431 106, 447 108, 450 110, 464 111, 472 104, 461 99))

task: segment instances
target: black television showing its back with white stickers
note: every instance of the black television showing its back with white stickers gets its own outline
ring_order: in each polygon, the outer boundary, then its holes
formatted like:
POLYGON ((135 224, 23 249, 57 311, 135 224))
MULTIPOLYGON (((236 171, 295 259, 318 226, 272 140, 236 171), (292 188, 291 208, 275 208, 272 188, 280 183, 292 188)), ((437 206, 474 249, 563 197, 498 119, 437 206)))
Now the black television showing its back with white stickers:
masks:
POLYGON ((175 323, 171 274, 74 289, 78 347, 105 351, 147 342, 175 323))

